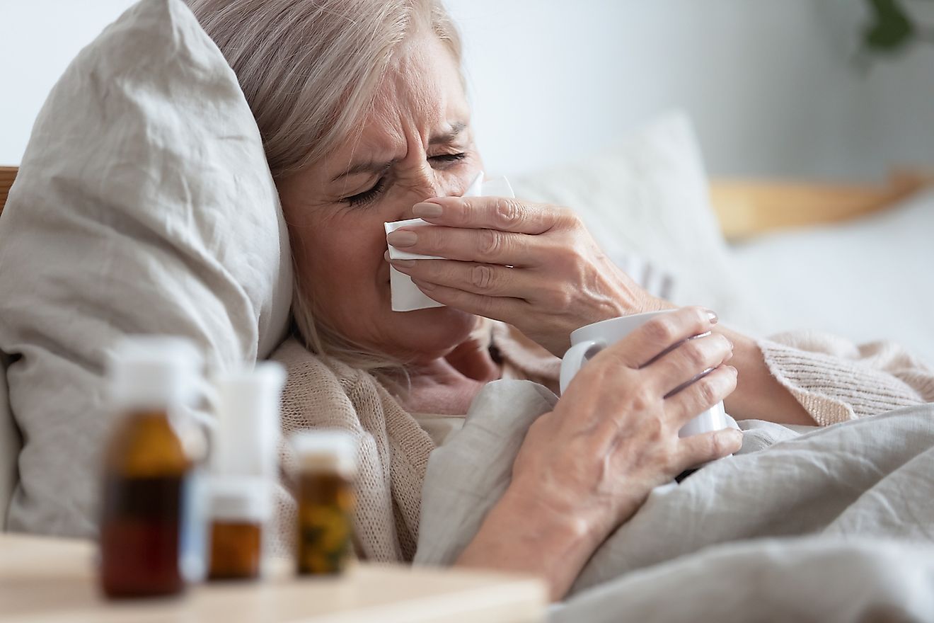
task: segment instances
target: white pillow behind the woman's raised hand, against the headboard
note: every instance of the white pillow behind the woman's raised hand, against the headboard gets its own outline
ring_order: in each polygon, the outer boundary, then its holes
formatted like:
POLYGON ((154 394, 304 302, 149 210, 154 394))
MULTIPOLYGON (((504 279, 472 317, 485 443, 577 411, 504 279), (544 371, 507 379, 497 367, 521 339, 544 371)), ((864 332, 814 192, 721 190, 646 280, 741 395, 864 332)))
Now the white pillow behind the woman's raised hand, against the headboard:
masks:
MULTIPOLYGON (((586 161, 513 180, 517 197, 571 207, 607 255, 633 256, 674 280, 671 300, 759 326, 710 207, 701 150, 686 115, 662 115, 586 161)), ((637 279, 638 280, 638 279, 637 279)))

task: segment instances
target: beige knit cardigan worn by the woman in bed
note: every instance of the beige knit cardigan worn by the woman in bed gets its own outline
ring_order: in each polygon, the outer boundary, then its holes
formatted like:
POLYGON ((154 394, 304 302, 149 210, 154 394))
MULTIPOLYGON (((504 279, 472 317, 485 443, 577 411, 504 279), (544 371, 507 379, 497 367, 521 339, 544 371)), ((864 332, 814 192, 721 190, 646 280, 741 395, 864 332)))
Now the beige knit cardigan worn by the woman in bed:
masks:
MULTIPOLYGON (((558 360, 511 334, 493 341, 512 377, 523 371, 545 382, 558 360)), ((934 402, 934 372, 891 343, 863 347, 824 334, 786 333, 759 343, 779 381, 821 425, 934 402)), ((273 359, 289 380, 282 404, 282 430, 339 428, 360 444, 355 550, 362 559, 410 561, 418 538, 421 488, 432 439, 372 375, 334 362, 326 365, 289 339, 273 359)), ((280 448, 289 463, 288 447, 280 448)), ((288 469, 279 488, 280 552, 291 550, 294 490, 288 469)))

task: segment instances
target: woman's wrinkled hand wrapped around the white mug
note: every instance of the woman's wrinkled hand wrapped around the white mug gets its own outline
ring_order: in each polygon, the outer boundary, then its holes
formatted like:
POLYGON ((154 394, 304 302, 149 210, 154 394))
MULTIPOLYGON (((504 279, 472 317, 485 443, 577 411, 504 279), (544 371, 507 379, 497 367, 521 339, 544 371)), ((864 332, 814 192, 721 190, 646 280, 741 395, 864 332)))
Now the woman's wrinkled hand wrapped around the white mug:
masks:
POLYGON ((714 322, 706 310, 687 307, 649 320, 589 361, 555 410, 532 425, 514 485, 534 491, 552 513, 587 521, 601 541, 652 488, 739 449, 742 433, 733 429, 678 437, 688 420, 736 388, 726 337, 686 339, 710 332, 714 322))

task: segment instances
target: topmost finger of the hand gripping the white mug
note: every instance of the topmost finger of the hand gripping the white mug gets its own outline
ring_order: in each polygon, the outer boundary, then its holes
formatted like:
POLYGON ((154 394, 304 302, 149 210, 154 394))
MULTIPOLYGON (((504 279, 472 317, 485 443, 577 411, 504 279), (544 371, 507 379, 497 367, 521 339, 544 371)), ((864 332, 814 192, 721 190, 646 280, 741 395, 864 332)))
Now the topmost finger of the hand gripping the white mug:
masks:
POLYGON ((703 307, 659 313, 603 352, 615 355, 630 368, 642 368, 688 337, 707 333, 716 321, 716 314, 703 307))

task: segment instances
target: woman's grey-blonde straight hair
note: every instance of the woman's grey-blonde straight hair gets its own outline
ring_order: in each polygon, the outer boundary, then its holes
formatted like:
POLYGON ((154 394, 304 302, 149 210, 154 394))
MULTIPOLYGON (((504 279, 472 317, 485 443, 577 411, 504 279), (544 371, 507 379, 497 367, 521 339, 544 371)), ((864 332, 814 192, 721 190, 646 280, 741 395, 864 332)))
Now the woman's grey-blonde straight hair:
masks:
MULTIPOLYGON (((417 31, 430 29, 461 60, 460 35, 441 0, 188 4, 240 82, 276 181, 317 163, 360 131, 393 55, 417 31)), ((398 370, 401 362, 367 352, 317 322, 314 302, 298 281, 292 313, 307 347, 377 375, 398 370)))

